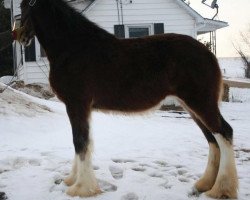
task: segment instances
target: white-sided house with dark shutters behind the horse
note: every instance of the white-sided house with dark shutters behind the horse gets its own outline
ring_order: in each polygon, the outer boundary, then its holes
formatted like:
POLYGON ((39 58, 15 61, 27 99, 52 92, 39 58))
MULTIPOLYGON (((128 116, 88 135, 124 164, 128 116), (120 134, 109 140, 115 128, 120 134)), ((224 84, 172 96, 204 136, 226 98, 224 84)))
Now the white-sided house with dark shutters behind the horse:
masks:
MULTIPOLYGON (((68 0, 79 12, 120 38, 159 33, 197 35, 228 26, 203 18, 182 0, 68 0)), ((21 0, 5 0, 12 21, 20 20, 21 0)), ((47 83, 49 64, 37 39, 24 49, 14 44, 17 78, 25 83, 47 83)))

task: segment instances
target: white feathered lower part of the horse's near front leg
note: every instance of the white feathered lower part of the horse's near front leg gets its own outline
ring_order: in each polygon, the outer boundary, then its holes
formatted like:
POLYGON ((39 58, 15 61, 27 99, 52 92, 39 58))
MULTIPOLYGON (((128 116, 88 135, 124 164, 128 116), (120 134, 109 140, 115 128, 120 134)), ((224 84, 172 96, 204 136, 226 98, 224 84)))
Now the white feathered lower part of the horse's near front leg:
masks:
POLYGON ((77 179, 67 194, 70 196, 89 197, 101 192, 91 162, 92 144, 88 145, 85 155, 77 155, 77 179))

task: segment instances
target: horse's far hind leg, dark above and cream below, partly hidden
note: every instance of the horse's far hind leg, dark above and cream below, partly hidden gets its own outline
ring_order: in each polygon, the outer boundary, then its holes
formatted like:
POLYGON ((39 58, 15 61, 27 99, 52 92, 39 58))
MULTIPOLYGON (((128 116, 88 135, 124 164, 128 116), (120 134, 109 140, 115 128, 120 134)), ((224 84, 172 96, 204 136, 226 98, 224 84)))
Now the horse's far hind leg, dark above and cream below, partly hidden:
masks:
POLYGON ((203 125, 203 123, 195 116, 195 114, 193 114, 192 112, 190 112, 190 114, 204 133, 209 144, 207 168, 203 176, 195 183, 193 191, 195 193, 200 193, 210 190, 215 183, 219 171, 220 149, 213 134, 206 128, 206 126, 203 125))

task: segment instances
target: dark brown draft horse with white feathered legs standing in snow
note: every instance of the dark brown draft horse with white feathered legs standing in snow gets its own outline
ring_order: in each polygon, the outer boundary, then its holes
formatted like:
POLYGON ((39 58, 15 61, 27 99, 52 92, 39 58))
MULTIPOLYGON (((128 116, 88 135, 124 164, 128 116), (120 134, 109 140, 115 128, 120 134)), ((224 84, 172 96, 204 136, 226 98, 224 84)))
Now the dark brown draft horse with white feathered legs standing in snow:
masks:
POLYGON ((64 182, 70 196, 101 193, 91 162, 94 109, 135 114, 175 96, 209 144, 207 167, 193 191, 237 198, 233 129, 219 110, 222 75, 216 57, 194 38, 160 34, 118 39, 63 0, 22 0, 20 42, 36 36, 50 62, 49 81, 65 104, 75 157, 64 182))

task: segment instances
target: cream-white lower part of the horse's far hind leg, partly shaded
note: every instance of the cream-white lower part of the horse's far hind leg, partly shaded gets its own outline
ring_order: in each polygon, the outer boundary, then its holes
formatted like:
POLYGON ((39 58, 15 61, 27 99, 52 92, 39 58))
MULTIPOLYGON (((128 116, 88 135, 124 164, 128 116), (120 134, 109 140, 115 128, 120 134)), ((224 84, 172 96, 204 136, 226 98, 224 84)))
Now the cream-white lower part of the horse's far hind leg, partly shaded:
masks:
POLYGON ((220 150, 216 144, 209 143, 209 155, 207 168, 204 175, 195 183, 199 192, 210 190, 216 180, 220 164, 220 150))

